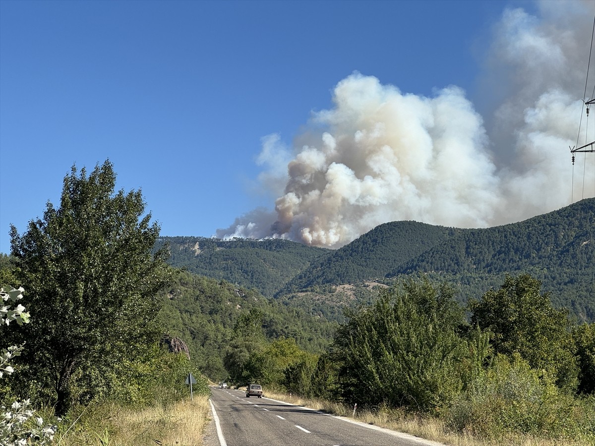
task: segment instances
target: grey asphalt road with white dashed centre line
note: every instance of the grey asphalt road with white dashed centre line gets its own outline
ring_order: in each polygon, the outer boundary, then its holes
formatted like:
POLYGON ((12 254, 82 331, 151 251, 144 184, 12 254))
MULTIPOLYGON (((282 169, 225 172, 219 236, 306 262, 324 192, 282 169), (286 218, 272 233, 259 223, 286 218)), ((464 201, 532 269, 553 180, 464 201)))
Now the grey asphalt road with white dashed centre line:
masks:
POLYGON ((211 402, 221 446, 439 445, 283 401, 246 398, 240 390, 214 387, 211 402))

